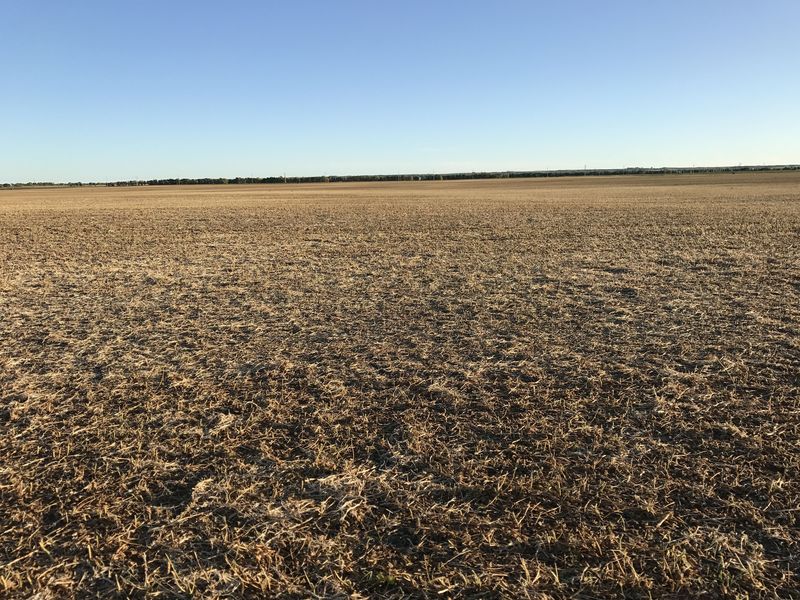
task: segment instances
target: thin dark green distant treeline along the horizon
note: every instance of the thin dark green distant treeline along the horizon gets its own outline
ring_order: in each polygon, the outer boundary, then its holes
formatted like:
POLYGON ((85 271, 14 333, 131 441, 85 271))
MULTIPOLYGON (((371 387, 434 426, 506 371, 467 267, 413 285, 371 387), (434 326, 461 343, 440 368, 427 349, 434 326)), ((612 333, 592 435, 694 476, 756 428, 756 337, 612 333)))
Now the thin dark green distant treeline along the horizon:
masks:
POLYGON ((140 186, 140 185, 237 185, 247 183, 334 183, 369 181, 453 181, 459 179, 508 179, 522 177, 580 177, 598 175, 669 175, 687 173, 742 173, 753 171, 797 171, 800 165, 758 165, 736 167, 629 167, 625 169, 562 169, 557 171, 472 171, 469 173, 416 173, 402 175, 320 175, 313 177, 204 177, 201 179, 148 179, 112 181, 108 183, 4 183, 0 187, 80 187, 80 186, 140 186))

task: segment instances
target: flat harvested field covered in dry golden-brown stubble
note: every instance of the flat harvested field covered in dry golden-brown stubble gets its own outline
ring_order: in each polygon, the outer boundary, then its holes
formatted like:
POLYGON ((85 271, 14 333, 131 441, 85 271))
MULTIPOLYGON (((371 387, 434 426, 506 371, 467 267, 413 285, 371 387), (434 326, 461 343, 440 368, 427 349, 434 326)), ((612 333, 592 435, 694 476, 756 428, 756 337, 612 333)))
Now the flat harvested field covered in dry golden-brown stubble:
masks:
POLYGON ((800 598, 800 174, 0 192, 0 596, 800 598))

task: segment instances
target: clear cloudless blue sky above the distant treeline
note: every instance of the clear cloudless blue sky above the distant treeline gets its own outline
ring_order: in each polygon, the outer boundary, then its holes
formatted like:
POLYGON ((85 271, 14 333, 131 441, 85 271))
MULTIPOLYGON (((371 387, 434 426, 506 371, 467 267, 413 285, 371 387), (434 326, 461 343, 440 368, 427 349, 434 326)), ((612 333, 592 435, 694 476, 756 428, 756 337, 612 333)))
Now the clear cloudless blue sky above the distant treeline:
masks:
POLYGON ((0 181, 800 163, 800 2, 0 0, 0 181))

